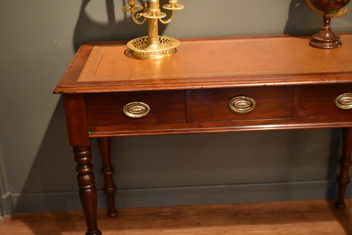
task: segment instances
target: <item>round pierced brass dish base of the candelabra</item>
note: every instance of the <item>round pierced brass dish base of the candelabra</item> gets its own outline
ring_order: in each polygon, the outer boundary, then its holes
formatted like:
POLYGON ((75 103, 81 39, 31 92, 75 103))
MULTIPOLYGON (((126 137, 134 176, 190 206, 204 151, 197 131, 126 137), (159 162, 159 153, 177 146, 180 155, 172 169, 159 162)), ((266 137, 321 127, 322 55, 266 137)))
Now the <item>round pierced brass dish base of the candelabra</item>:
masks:
POLYGON ((133 51, 133 56, 144 60, 159 60, 173 56, 175 54, 175 47, 180 45, 180 41, 175 38, 160 36, 159 42, 161 48, 151 49, 148 42, 148 36, 140 37, 131 40, 127 46, 133 51))

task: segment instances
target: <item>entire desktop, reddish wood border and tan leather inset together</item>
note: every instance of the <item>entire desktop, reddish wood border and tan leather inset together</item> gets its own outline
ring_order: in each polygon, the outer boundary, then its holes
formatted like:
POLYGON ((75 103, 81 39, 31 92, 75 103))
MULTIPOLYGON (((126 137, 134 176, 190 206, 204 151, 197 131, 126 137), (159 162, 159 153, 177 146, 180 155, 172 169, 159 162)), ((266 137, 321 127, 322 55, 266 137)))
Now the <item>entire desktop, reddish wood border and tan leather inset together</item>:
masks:
POLYGON ((92 58, 92 50, 95 47, 103 46, 107 47, 107 50, 125 47, 125 42, 87 43, 81 46, 54 93, 352 82, 352 64, 351 58, 348 57, 348 51, 352 50, 352 35, 342 34, 344 47, 334 50, 307 46, 309 38, 281 35, 184 39, 181 40, 181 46, 175 56, 162 61, 136 60, 125 55, 124 50, 120 53, 111 51, 109 59, 112 61, 105 60, 102 64, 107 71, 99 70, 102 73, 99 75, 104 75, 102 78, 87 78, 77 82, 82 71, 86 73, 90 71, 86 68, 98 66, 94 60, 86 64, 87 60, 92 58), (232 43, 226 43, 227 40, 232 43), (202 43, 204 50, 199 49, 199 44, 202 43), (229 47, 221 49, 222 44, 229 47), (182 45, 185 46, 184 49, 182 45), (196 48, 199 50, 197 53, 194 51, 196 48), (340 52, 341 50, 343 52, 340 52), (189 53, 190 51, 192 53, 189 53), (126 69, 130 72, 132 69, 138 70, 134 73, 138 77, 116 78, 119 72, 128 74, 126 69))

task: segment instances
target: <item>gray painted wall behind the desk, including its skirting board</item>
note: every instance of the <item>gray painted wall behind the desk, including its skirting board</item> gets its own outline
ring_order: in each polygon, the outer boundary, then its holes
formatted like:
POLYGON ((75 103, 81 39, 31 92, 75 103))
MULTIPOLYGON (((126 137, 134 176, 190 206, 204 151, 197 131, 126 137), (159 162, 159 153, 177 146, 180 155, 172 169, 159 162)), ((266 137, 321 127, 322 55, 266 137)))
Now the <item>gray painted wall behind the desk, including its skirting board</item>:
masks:
MULTIPOLYGON (((120 10, 125 2, 0 1, 0 148, 15 212, 80 208, 63 102, 52 91, 81 43, 147 33, 120 10)), ((180 1, 185 8, 161 32, 186 38, 322 26, 304 0, 218 2, 180 1)), ((348 14, 332 25, 352 31, 351 22, 348 14)), ((96 140, 92 145, 104 208, 96 140)), ((115 138, 118 207, 333 198, 340 147, 340 129, 115 138)))

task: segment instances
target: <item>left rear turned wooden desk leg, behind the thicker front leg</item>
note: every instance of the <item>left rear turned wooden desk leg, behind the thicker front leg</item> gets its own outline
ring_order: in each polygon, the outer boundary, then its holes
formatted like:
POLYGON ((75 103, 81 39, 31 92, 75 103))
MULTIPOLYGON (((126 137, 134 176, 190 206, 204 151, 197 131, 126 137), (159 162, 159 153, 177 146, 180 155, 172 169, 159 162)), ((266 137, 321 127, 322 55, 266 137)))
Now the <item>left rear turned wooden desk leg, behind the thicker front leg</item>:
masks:
POLYGON ((109 204, 107 216, 115 217, 117 216, 118 212, 115 208, 116 185, 114 184, 112 178, 112 174, 114 173, 115 169, 111 165, 111 138, 98 138, 98 145, 103 161, 103 168, 101 169, 101 173, 104 175, 105 178, 104 192, 106 193, 109 204))

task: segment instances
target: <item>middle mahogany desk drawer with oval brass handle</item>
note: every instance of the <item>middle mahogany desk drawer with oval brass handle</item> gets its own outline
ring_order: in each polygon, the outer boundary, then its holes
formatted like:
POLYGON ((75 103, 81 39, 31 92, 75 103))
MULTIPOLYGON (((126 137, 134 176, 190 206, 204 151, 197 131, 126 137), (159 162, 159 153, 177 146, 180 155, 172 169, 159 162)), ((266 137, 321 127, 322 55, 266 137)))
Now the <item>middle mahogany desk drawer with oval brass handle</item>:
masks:
MULTIPOLYGON (((291 86, 193 90, 193 121, 291 118, 292 94, 291 86), (241 96, 253 99, 255 103, 253 110, 238 113, 230 108, 230 101, 241 96)), ((239 100, 235 106, 245 108, 250 102, 252 101, 239 100)))

